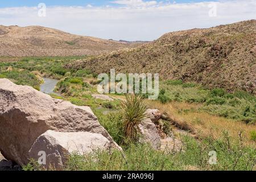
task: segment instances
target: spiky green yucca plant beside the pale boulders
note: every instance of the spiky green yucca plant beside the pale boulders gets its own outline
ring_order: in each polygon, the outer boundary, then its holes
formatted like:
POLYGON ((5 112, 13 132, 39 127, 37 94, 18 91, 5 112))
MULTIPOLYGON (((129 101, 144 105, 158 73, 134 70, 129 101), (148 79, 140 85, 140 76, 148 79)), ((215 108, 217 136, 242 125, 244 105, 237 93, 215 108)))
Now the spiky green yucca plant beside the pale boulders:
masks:
POLYGON ((138 139, 138 125, 147 118, 147 105, 142 96, 126 94, 126 100, 121 101, 125 137, 131 141, 138 139))

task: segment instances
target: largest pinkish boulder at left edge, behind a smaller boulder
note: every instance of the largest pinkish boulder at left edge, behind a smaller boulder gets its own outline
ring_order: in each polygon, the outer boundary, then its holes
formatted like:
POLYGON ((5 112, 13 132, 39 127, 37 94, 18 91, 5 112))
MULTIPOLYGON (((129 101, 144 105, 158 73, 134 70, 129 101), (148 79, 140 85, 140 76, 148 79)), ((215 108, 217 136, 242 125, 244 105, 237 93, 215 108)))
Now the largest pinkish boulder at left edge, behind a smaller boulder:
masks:
POLYGON ((119 146, 100 125, 90 107, 56 100, 30 86, 0 79, 0 151, 8 160, 28 163, 28 151, 47 130, 101 134, 119 146))

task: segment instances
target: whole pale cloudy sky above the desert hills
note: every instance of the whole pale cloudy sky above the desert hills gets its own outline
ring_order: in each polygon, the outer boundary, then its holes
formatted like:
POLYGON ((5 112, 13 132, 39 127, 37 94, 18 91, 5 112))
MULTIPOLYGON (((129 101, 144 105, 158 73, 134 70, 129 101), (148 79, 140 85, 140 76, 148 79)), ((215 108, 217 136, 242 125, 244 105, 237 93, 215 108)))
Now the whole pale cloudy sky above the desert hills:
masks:
POLYGON ((104 39, 154 40, 166 32, 256 19, 255 10, 256 0, 9 0, 0 3, 0 24, 45 26, 104 39))

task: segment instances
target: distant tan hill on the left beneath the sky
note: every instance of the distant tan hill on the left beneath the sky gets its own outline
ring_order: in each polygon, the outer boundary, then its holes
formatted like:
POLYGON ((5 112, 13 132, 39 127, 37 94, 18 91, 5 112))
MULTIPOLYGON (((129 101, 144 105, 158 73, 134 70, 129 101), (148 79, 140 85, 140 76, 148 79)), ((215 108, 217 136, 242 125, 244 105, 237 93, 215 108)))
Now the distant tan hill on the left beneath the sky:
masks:
POLYGON ((129 46, 128 43, 73 35, 40 26, 0 26, 0 56, 98 55, 129 46))

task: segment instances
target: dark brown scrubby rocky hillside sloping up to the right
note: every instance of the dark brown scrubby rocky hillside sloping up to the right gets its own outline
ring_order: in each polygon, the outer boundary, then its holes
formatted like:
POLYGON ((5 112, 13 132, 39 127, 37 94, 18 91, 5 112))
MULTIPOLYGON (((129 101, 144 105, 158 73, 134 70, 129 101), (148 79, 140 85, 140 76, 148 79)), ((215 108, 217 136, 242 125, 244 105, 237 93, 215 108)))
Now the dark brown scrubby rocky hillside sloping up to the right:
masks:
POLYGON ((170 32, 137 48, 79 60, 67 68, 160 73, 164 79, 256 93, 256 20, 170 32))

